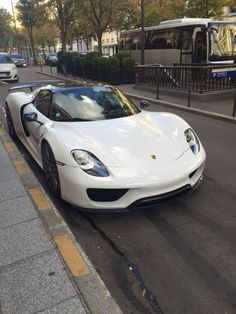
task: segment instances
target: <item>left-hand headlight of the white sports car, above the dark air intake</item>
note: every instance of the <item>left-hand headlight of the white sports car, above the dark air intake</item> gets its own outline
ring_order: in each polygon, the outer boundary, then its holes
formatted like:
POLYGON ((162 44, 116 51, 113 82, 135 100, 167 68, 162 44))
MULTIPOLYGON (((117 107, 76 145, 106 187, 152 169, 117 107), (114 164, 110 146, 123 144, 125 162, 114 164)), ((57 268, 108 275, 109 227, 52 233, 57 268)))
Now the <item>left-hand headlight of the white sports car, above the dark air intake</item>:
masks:
POLYGON ((89 153, 85 150, 73 150, 71 154, 77 165, 84 172, 96 177, 109 176, 107 168, 92 153, 89 153))

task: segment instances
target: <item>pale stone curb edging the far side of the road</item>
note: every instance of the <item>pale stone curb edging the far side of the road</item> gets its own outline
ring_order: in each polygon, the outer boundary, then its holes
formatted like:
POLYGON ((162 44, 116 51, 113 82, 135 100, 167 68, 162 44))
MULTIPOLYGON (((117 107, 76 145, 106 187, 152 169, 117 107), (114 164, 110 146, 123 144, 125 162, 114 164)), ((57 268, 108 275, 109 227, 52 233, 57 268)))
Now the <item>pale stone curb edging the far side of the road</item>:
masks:
MULTIPOLYGON (((58 75, 54 75, 54 74, 49 74, 49 73, 43 73, 40 71, 36 71, 36 73, 38 74, 42 74, 45 76, 50 76, 50 77, 55 77, 57 79, 61 79, 64 81, 70 81, 70 82, 76 82, 78 83, 77 80, 73 80, 73 79, 69 79, 66 77, 61 77, 58 75)), ((236 123, 236 117, 230 117, 230 116, 226 116, 223 114, 218 114, 218 113, 214 113, 211 111, 205 111, 205 110, 200 110, 200 109, 195 109, 195 108, 190 108, 190 107, 185 107, 185 106, 181 106, 181 105, 177 105, 175 103, 171 103, 171 102, 167 102, 164 100, 156 100, 154 98, 149 98, 149 97, 142 97, 142 96, 138 96, 136 94, 132 94, 132 93, 127 93, 124 91, 124 94, 131 97, 131 98, 135 98, 135 99, 144 99, 147 100, 151 103, 157 104, 157 105, 162 105, 162 106, 166 106, 172 109, 177 109, 177 110, 181 110, 181 111, 186 111, 186 112, 190 112, 190 113, 194 113, 194 114, 198 114, 200 116, 204 116, 204 117, 208 117, 211 119, 216 119, 216 120, 221 120, 221 121, 225 121, 225 122, 229 122, 229 123, 236 123)))

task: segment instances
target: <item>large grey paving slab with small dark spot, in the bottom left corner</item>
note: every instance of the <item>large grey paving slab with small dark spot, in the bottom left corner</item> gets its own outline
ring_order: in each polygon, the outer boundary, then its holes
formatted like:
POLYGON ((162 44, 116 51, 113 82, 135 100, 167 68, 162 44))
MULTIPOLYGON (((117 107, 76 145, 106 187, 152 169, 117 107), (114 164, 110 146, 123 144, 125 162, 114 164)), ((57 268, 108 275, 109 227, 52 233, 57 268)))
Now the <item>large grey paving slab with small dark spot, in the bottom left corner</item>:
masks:
POLYGON ((0 268, 0 291, 4 314, 32 314, 76 296, 54 250, 0 268))

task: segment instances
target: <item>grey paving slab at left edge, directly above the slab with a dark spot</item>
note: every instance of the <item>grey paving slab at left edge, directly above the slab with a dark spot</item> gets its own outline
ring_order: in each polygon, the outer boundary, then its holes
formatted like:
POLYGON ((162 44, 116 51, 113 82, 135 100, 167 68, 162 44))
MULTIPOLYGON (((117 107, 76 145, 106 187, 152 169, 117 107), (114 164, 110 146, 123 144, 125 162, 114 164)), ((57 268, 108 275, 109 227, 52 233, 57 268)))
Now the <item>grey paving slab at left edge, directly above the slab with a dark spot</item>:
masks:
POLYGON ((40 219, 0 230, 0 266, 8 265, 53 248, 40 219))

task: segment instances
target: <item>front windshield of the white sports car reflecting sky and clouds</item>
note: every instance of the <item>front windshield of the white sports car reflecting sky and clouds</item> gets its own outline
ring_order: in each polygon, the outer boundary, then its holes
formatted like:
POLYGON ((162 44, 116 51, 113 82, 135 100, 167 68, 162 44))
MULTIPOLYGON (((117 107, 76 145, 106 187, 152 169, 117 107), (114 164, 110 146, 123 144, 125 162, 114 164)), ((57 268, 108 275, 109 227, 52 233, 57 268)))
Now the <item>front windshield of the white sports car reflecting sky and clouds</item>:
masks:
POLYGON ((54 94, 56 121, 97 121, 137 114, 140 110, 117 88, 82 86, 54 94))

